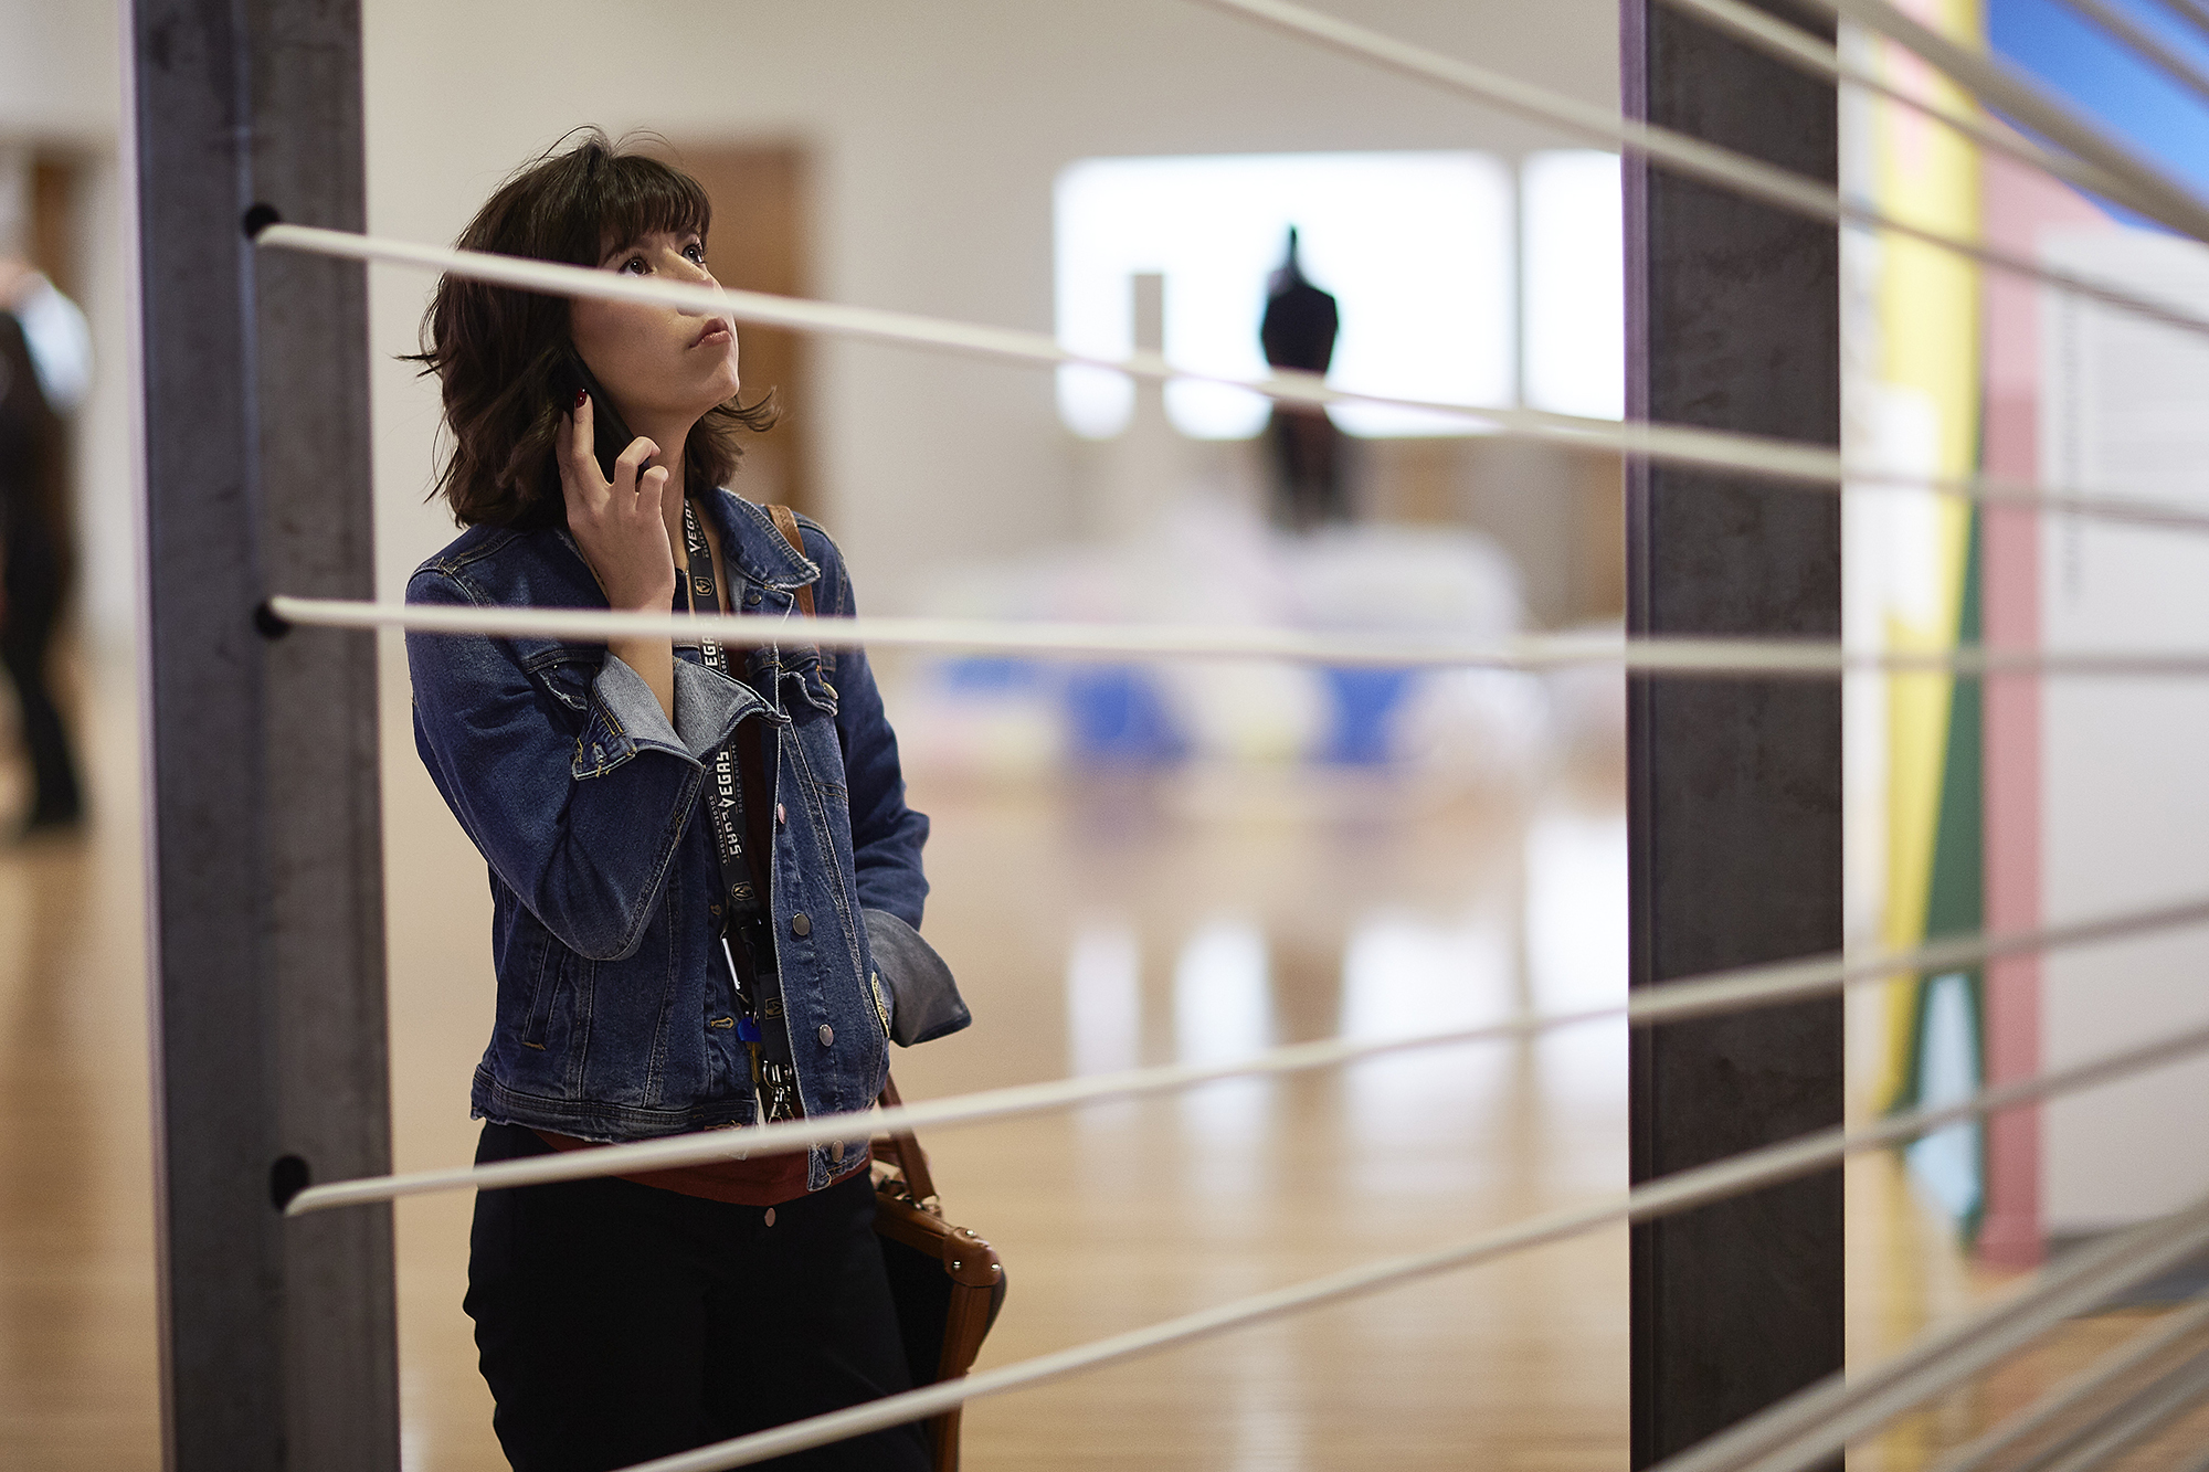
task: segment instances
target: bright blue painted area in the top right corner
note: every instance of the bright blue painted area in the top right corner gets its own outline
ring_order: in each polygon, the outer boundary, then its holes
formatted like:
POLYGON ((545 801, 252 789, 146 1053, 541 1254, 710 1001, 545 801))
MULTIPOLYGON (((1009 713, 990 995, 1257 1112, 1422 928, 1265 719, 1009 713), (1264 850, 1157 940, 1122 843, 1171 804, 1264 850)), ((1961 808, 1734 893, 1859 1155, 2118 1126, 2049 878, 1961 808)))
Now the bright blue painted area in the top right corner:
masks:
MULTIPOLYGON (((2110 0, 2209 73, 2209 38, 2152 0, 2110 0)), ((1988 0, 1986 44, 2103 133, 2209 197, 2209 104, 2141 60, 2063 0, 1988 0)), ((2127 223, 2125 210, 2112 210, 2127 223)))

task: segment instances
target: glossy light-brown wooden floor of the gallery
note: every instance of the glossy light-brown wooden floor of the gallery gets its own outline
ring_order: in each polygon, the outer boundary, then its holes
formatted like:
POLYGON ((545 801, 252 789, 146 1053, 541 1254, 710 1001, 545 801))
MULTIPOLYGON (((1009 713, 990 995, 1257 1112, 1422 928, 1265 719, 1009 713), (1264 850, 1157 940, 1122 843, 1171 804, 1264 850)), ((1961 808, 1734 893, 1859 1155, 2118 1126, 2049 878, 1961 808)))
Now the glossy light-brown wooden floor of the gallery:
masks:
MULTIPOLYGON (((126 670, 91 674, 93 827, 0 851, 4 1468, 159 1463, 135 716, 126 670)), ((402 712, 387 712, 384 763, 391 1083, 398 1163, 422 1167, 473 1147, 488 897, 402 712)), ((899 1056, 908 1098, 1619 984, 1615 769, 1531 793, 1308 771, 917 774, 915 802, 937 818, 928 933, 976 1026, 899 1056)), ((945 1132, 930 1147, 950 1211, 1012 1275, 983 1364, 1617 1191, 1624 1061, 1619 1028, 1586 1028, 945 1132)), ((398 1207, 411 1470, 504 1465, 459 1313, 468 1205, 398 1207)), ((1851 1357, 2012 1286, 1962 1262, 1889 1158, 1851 1167, 1849 1211, 1851 1357)), ((2065 1326, 1851 1468, 1924 1465, 2145 1317, 2065 1326)), ((2125 1465, 2178 1465, 2187 1430, 2125 1465)), ((968 1465, 1621 1470, 1626 1236, 981 1401, 968 1465)))

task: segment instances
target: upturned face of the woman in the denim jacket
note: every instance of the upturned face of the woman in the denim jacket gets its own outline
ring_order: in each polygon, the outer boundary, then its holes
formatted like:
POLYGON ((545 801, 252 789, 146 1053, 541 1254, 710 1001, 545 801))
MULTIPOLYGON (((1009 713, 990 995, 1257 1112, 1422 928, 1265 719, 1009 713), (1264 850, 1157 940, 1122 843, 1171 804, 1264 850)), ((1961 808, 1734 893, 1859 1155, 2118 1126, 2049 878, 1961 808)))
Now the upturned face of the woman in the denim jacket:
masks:
MULTIPOLYGON (((660 230, 607 250, 599 265, 647 281, 718 285, 696 234, 660 230)), ((736 323, 727 316, 579 298, 568 309, 568 329, 636 433, 667 433, 674 422, 689 429, 736 396, 736 323)))

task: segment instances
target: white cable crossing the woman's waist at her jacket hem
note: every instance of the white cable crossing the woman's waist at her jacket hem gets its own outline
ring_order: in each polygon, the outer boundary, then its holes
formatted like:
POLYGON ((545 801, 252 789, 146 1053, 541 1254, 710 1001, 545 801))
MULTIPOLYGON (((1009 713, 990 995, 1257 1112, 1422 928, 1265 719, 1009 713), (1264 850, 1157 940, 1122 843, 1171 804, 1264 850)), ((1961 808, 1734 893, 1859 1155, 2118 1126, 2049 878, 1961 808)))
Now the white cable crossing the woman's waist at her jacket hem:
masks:
POLYGON ((680 1134, 658 1140, 599 1145, 592 1149, 561 1152, 557 1156, 499 1160, 495 1165, 462 1165, 451 1169, 411 1171, 402 1176, 334 1180, 329 1185, 307 1187, 294 1196, 285 1207, 285 1213, 303 1216, 307 1211, 395 1200, 400 1196, 422 1196, 429 1191, 457 1191, 471 1187, 490 1191, 521 1185, 550 1185, 554 1180, 588 1180, 594 1176, 636 1176, 678 1165, 709 1165, 716 1160, 729 1160, 731 1156, 793 1154, 815 1145, 833 1145, 862 1132, 877 1134, 901 1129, 919 1134, 921 1129, 948 1129, 954 1125, 1021 1118, 1071 1110, 1107 1098, 1138 1098, 1146 1094, 1182 1092, 1206 1083, 1219 1083, 1224 1079, 1341 1068, 1416 1048, 1533 1037, 1537 1032, 1613 1017, 1626 1017, 1635 1028, 1650 1028, 1668 1021, 1688 1021, 1692 1017, 1716 1017, 1761 1006, 1805 1001, 1840 988, 1884 981, 1895 975, 1962 970, 2001 959, 2006 955, 2068 950, 2127 935, 2178 930, 2198 924, 2209 924, 2209 897, 2145 911, 2125 911, 2118 915, 2096 915, 2094 919, 2046 926, 2039 930, 1953 937, 1917 946, 1913 950, 1880 953, 1869 957, 1827 955, 1800 961, 1778 961, 1774 966, 1743 966, 1705 977, 1688 977, 1679 981, 1663 981, 1659 986, 1635 988, 1628 995, 1626 1006, 1586 1008, 1549 1017, 1515 1017, 1480 1028, 1372 1041, 1330 1039, 1275 1048, 1233 1063, 1135 1068, 1118 1074, 1096 1074, 1091 1079, 1025 1083, 1005 1090, 983 1090, 976 1094, 901 1105, 877 1114, 828 1114, 822 1118, 753 1125, 747 1129, 709 1129, 705 1134, 680 1134))

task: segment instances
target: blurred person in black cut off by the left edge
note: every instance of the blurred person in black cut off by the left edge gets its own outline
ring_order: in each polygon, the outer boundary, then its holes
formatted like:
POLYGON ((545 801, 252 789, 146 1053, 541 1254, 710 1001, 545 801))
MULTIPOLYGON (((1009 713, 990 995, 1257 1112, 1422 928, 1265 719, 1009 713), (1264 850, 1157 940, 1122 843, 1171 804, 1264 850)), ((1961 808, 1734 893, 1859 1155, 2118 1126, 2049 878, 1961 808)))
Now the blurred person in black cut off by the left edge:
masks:
POLYGON ((75 570, 62 416, 88 382, 84 314, 24 261, 0 256, 0 663, 15 681, 31 756, 24 833, 84 816, 46 654, 75 570))

